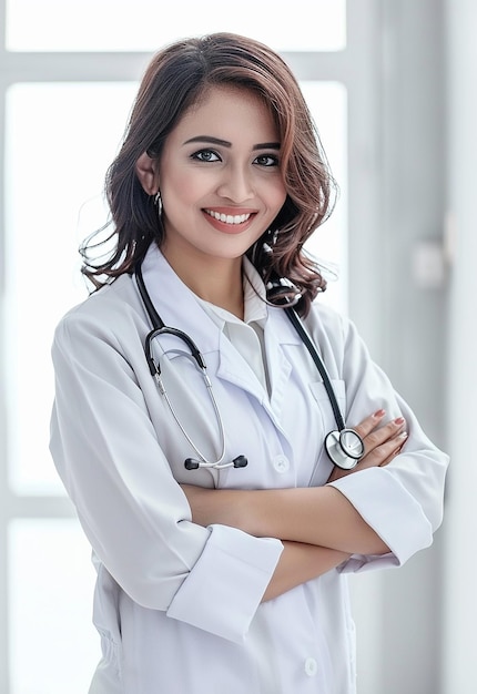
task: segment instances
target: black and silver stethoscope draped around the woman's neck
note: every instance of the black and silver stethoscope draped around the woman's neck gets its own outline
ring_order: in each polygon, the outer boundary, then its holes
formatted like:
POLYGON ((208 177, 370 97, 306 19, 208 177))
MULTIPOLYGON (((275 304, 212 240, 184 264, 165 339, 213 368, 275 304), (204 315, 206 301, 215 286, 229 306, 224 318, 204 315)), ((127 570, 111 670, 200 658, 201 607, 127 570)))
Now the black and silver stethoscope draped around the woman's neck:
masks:
MULTIPOLYGON (((177 328, 166 326, 163 323, 161 316, 158 314, 158 312, 154 308, 154 305, 151 300, 148 289, 145 288, 145 284, 144 284, 144 279, 143 279, 142 271, 141 271, 141 264, 139 264, 135 268, 135 277, 136 277, 138 289, 141 295, 142 302, 144 304, 144 308, 153 326, 153 329, 146 335, 145 341, 144 341, 144 354, 145 354, 145 359, 148 361, 149 370, 151 372, 151 376, 154 378, 158 385, 159 391, 164 398, 177 427, 180 428, 183 436, 189 441, 190 446, 192 447, 192 449, 194 450, 196 455, 196 458, 186 458, 184 460, 184 467, 187 470, 196 470, 197 468, 214 468, 216 470, 221 470, 223 468, 245 468, 248 465, 248 461, 245 458, 245 456, 237 456, 231 461, 224 461, 225 432, 224 432, 223 420, 222 420, 222 416, 219 410, 219 406, 217 406, 217 402, 215 400, 215 396, 212 389, 212 382, 206 372, 206 364, 201 351, 199 350, 193 339, 186 333, 177 328), (211 404, 214 410, 217 429, 219 429, 219 449, 220 450, 219 450, 219 453, 216 453, 216 459, 214 461, 207 460, 207 458, 197 448, 194 441, 192 441, 180 417, 177 416, 175 407, 173 406, 168 395, 168 390, 162 378, 161 366, 160 366, 159 359, 155 359, 154 354, 153 354, 153 343, 155 338, 160 336, 164 336, 164 335, 172 335, 179 338, 180 340, 182 340, 186 345, 189 351, 186 353, 185 356, 193 359, 199 371, 202 374, 202 378, 204 380, 205 387, 209 392, 209 398, 211 400, 211 404)), ((277 285, 282 286, 283 280, 277 280, 277 285)), ((357 431, 355 431, 354 429, 349 429, 345 426, 342 412, 339 410, 339 405, 337 402, 336 395, 333 389, 332 382, 329 380, 329 376, 326 370, 326 367, 321 356, 318 355, 312 339, 309 338, 302 320, 300 319, 298 314, 293 308, 293 306, 284 307, 283 310, 285 310, 286 315, 292 322, 292 325, 298 333, 313 361, 315 363, 316 368, 318 369, 319 375, 323 378, 323 384, 325 386, 326 394, 329 398, 329 404, 333 409, 333 415, 335 417, 337 428, 334 429, 333 431, 329 431, 329 433, 327 433, 325 437, 324 442, 325 442, 326 452, 331 461, 335 466, 337 466, 338 468, 342 468, 343 470, 351 470, 364 457, 365 447, 364 447, 363 439, 358 435, 357 431)), ((184 354, 184 353, 181 351, 181 354, 184 354)))

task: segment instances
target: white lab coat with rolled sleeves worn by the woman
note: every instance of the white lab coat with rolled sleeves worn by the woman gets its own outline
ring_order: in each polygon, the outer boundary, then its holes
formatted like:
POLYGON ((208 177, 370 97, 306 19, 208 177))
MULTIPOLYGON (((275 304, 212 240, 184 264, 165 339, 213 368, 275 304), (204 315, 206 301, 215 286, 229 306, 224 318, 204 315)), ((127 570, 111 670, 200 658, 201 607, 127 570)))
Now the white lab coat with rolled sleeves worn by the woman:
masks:
MULTIPOLYGON (((164 323, 190 334, 204 355, 226 458, 243 453, 248 466, 184 469, 195 455, 151 378, 143 351, 151 326, 134 278, 121 276, 63 318, 53 345, 51 451, 98 569, 94 623, 103 657, 91 693, 352 694, 346 572, 399 565, 430 544, 442 520, 447 457, 372 363, 353 324, 316 302, 306 323, 347 425, 380 407, 407 421, 409 439, 390 465, 334 483, 392 553, 355 555, 261 604, 280 540, 192 523, 177 481, 324 484, 331 463, 323 440, 335 425, 322 379, 282 309, 267 308, 268 397, 155 247, 143 274, 164 323)), ((200 376, 174 356, 162 367, 187 433, 213 458, 217 425, 200 376)))

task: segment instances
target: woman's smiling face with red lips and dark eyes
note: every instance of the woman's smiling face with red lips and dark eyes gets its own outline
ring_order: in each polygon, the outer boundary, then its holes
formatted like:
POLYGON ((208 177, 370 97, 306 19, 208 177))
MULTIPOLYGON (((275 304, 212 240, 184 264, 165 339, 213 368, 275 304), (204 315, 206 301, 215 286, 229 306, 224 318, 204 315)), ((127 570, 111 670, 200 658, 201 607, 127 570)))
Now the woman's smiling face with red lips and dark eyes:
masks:
POLYGON ((280 136, 251 91, 212 88, 169 135, 156 184, 162 251, 176 262, 237 262, 285 202, 280 136))

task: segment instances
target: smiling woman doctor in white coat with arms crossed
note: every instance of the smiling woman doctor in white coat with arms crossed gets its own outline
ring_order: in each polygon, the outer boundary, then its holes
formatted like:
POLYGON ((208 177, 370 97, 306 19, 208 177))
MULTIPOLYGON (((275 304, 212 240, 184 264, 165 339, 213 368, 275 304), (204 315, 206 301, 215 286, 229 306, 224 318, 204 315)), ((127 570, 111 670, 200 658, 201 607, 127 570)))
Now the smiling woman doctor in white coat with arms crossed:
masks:
POLYGON ((98 570, 91 694, 353 694, 347 572, 432 542, 447 457, 303 251, 332 184, 273 51, 213 34, 154 57, 108 172, 114 251, 83 248, 98 290, 53 345, 51 451, 98 570), (364 441, 352 469, 292 304, 364 441))

